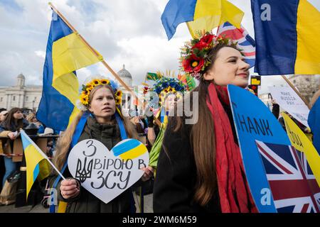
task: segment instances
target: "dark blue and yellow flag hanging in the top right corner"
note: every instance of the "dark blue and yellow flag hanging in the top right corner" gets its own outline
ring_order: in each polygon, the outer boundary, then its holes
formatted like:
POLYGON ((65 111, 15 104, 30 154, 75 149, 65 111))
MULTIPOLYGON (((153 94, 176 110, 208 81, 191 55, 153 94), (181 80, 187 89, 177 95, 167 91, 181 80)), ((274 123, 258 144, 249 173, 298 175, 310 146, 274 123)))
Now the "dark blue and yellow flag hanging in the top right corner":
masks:
POLYGON ((306 0, 252 0, 255 72, 320 74, 320 12, 306 0))

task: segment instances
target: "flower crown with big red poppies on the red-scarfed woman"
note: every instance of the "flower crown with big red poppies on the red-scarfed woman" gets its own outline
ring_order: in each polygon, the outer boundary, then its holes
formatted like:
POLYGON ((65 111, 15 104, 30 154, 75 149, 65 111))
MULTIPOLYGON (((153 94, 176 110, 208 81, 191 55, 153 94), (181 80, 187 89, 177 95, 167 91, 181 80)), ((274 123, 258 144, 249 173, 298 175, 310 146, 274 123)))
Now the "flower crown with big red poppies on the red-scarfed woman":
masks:
POLYGON ((213 33, 206 32, 201 35, 201 38, 194 38, 183 45, 181 48, 181 69, 196 79, 201 78, 201 74, 206 72, 208 66, 211 65, 209 52, 217 45, 231 45, 235 46, 233 40, 224 38, 222 36, 213 35, 213 33))

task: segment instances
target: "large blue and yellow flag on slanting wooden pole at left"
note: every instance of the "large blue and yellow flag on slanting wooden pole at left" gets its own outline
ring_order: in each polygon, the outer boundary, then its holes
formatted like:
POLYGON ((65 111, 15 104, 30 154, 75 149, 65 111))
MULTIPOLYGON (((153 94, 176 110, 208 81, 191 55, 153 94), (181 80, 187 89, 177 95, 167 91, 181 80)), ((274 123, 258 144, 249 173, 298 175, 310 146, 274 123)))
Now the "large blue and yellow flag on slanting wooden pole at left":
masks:
POLYGON ((53 11, 43 67, 43 93, 37 118, 49 128, 65 131, 78 114, 79 83, 75 70, 103 60, 78 33, 53 11))

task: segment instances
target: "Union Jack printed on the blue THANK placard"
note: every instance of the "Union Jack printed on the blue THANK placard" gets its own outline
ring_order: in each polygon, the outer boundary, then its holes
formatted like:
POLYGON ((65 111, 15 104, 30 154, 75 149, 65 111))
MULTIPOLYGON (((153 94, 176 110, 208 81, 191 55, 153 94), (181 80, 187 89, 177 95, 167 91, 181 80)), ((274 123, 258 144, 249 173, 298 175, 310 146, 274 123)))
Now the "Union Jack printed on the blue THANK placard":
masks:
POLYGON ((319 213, 320 188, 304 153, 291 145, 256 140, 279 213, 319 213))

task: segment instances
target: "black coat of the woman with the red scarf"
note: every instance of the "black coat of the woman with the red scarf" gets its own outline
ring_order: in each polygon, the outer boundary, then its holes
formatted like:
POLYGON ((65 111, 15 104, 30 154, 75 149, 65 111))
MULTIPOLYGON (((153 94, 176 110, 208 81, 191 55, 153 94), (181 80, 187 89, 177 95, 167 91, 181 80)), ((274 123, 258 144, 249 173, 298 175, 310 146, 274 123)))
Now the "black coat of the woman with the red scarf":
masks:
POLYGON ((154 181, 154 212, 220 212, 218 193, 206 206, 193 200, 196 162, 189 139, 191 125, 183 124, 176 133, 174 128, 175 118, 169 118, 154 181))

